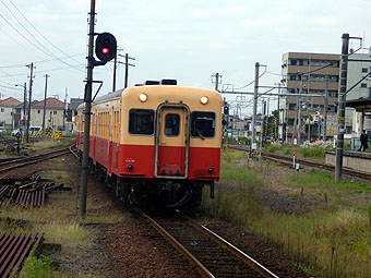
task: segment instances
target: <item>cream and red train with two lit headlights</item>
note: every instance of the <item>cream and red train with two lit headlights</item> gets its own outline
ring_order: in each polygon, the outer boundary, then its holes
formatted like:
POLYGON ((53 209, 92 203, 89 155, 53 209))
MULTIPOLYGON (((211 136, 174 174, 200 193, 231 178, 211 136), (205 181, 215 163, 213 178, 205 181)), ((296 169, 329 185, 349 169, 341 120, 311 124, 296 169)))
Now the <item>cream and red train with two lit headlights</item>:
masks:
MULTIPOLYGON (((92 104, 89 170, 124 203, 195 208, 219 179, 223 99, 215 90, 143 85, 92 104), (152 203, 152 202, 151 202, 152 203)), ((172 83, 172 82, 170 82, 172 83)), ((173 84, 173 83, 172 83, 173 84)), ((83 150, 84 105, 76 146, 83 150)))

